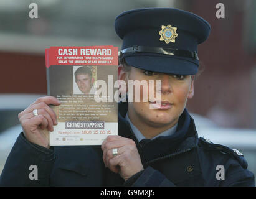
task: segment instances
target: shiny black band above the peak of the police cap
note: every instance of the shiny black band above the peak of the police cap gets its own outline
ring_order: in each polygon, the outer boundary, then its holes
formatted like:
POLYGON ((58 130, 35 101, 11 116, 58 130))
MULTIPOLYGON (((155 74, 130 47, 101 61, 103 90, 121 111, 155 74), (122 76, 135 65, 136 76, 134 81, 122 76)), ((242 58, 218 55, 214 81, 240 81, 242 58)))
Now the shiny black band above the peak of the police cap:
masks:
POLYGON ((195 60, 199 60, 197 52, 191 52, 189 50, 178 50, 178 49, 171 49, 171 48, 160 48, 160 47, 146 47, 146 46, 140 46, 135 45, 133 47, 129 47, 126 49, 121 50, 121 55, 124 53, 158 53, 163 55, 175 55, 179 57, 187 57, 187 58, 193 58, 195 60))

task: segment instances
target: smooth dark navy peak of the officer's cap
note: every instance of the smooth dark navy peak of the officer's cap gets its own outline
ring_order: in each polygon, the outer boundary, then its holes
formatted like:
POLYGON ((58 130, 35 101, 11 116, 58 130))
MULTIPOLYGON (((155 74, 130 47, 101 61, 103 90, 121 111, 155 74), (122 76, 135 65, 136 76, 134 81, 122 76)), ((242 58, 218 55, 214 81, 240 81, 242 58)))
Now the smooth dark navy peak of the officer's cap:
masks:
POLYGON ((198 72, 199 63, 189 59, 178 57, 158 57, 152 55, 125 56, 128 65, 144 70, 152 70, 159 73, 177 75, 195 75, 198 72))

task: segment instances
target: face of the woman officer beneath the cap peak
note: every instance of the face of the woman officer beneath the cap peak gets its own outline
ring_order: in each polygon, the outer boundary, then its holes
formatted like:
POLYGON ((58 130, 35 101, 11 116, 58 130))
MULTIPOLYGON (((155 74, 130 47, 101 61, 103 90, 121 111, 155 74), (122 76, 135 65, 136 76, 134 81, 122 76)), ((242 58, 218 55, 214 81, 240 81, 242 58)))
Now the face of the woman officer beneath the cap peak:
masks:
POLYGON ((150 108, 150 104, 153 103, 149 99, 149 90, 147 94, 148 101, 143 102, 143 93, 145 95, 143 86, 140 86, 140 92, 136 92, 135 88, 133 88, 133 101, 135 101, 135 95, 140 95, 141 99, 140 102, 129 103, 128 116, 133 123, 140 121, 140 124, 144 123, 151 127, 166 127, 166 129, 169 129, 178 122, 179 116, 181 116, 186 106, 187 99, 192 98, 194 95, 191 75, 170 75, 131 67, 128 73, 121 72, 119 76, 122 80, 126 80, 128 92, 127 80, 146 80, 148 85, 149 80, 154 80, 154 98, 156 97, 156 80, 161 80, 162 104, 158 109, 150 108))

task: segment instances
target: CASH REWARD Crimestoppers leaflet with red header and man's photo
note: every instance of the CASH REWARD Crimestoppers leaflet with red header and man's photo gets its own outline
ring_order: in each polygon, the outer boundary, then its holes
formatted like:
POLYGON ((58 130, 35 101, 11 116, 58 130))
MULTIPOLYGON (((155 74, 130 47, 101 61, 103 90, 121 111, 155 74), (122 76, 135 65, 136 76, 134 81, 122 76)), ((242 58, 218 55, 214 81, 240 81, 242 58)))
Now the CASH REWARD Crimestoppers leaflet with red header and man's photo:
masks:
POLYGON ((58 124, 50 132, 50 146, 100 145, 118 134, 117 47, 50 47, 45 63, 47 93, 61 102, 51 106, 58 124))

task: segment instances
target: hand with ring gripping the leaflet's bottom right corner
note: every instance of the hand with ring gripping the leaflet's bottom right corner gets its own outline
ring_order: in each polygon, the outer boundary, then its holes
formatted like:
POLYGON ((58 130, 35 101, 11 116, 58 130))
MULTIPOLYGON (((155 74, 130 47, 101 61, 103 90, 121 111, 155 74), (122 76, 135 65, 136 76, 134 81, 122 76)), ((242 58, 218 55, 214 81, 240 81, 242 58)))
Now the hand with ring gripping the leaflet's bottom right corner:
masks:
POLYGON ((108 136, 102 142, 103 162, 112 172, 119 173, 126 181, 134 174, 143 170, 140 155, 135 142, 121 136, 108 136), (113 149, 118 155, 113 157, 113 149))

